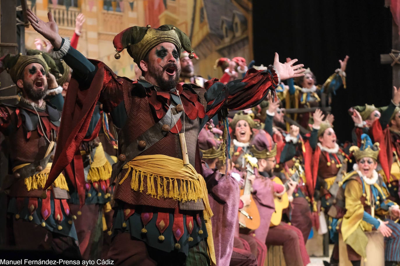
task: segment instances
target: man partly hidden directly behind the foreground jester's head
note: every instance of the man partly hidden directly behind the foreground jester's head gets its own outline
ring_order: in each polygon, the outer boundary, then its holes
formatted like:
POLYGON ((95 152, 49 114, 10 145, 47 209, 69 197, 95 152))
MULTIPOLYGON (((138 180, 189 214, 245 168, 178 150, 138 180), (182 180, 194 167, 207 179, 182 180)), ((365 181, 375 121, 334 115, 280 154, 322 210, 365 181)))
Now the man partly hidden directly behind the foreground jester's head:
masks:
MULTIPOLYGON (((186 51, 182 51, 180 53, 179 61, 182 71, 180 72, 179 83, 181 85, 185 83, 192 83, 196 84, 199 87, 204 87, 204 83, 206 83, 207 80, 201 76, 194 75, 194 66, 192 59, 189 58, 189 55, 190 53, 186 51)), ((199 59, 196 54, 193 54, 193 56, 196 60, 199 59)))

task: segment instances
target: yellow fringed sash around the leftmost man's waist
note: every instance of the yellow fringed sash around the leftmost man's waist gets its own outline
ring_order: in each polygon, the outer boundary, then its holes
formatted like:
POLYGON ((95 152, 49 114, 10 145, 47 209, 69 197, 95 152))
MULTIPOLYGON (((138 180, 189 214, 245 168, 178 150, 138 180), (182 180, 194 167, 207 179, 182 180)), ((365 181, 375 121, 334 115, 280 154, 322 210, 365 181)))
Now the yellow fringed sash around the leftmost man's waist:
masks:
MULTIPOLYGON (((15 172, 16 170, 18 170, 24 166, 27 166, 27 165, 29 165, 29 164, 20 164, 20 165, 14 167, 12 169, 12 172, 15 172)), ((31 191, 32 189, 43 189, 44 184, 46 184, 48 174, 50 173, 51 166, 52 166, 52 163, 48 163, 46 168, 43 169, 43 171, 41 171, 39 173, 35 173, 34 175, 32 175, 30 177, 26 177, 25 181, 24 181, 24 183, 26 185, 26 189, 28 189, 28 191, 31 191)), ((65 189, 65 190, 69 191, 67 181, 65 180, 65 176, 62 173, 60 173, 60 175, 58 175, 58 177, 54 181, 53 185, 54 185, 54 187, 58 187, 60 189, 65 189)))

